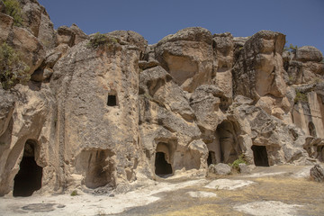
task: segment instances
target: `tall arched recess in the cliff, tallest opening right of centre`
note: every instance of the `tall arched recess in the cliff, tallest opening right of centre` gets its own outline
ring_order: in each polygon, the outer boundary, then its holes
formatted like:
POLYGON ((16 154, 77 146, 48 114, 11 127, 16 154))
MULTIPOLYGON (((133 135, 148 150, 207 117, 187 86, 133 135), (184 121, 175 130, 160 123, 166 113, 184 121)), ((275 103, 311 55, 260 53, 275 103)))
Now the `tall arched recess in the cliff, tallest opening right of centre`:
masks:
POLYGON ((216 132, 220 139, 221 163, 233 163, 241 153, 233 124, 230 121, 222 121, 216 132))

